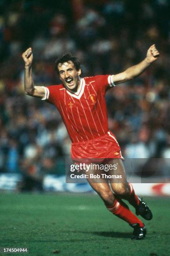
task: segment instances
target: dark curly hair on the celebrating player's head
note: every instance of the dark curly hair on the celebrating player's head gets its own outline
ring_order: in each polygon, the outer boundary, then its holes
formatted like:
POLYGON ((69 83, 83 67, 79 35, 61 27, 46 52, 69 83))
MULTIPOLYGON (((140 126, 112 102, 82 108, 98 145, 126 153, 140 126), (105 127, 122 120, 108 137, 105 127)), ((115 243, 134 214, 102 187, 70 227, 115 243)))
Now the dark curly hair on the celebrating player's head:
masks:
POLYGON ((60 64, 62 66, 65 62, 69 62, 69 61, 72 61, 76 70, 79 70, 81 68, 80 61, 76 57, 72 56, 70 52, 67 52, 66 54, 62 55, 61 58, 55 61, 55 70, 57 71, 58 75, 59 75, 58 65, 60 64))

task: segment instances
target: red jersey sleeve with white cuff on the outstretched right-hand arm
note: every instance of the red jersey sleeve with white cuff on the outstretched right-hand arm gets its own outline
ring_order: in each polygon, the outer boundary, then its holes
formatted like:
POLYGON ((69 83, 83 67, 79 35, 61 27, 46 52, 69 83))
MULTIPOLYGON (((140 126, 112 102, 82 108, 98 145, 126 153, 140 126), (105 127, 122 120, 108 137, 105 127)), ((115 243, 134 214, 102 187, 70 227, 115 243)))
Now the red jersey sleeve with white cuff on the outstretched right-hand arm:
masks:
POLYGON ((95 79, 99 87, 102 87, 102 88, 105 88, 105 90, 108 90, 115 86, 113 82, 113 76, 114 75, 97 75, 95 76, 95 79))

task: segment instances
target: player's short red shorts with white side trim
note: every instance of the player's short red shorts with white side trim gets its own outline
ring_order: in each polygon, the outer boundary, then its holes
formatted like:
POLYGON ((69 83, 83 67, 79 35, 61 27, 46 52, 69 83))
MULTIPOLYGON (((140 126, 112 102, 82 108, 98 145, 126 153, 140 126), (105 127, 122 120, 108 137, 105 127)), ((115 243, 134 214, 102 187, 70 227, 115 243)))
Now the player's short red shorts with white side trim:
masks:
POLYGON ((72 143, 71 157, 75 162, 100 164, 106 159, 124 159, 115 135, 110 131, 89 141, 72 143))

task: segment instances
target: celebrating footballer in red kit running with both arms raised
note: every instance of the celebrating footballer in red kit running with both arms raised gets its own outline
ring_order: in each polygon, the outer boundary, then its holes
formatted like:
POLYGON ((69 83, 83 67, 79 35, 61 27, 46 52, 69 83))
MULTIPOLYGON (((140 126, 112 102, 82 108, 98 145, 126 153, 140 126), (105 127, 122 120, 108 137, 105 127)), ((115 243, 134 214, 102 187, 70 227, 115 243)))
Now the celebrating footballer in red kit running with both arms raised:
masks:
MULTIPOLYGON (((107 209, 133 228, 132 239, 143 239, 146 227, 136 215, 145 220, 151 220, 153 215, 148 205, 135 195, 132 184, 127 182, 120 146, 115 135, 108 129, 105 93, 114 90, 117 84, 138 77, 156 61, 159 52, 155 44, 150 46, 143 61, 115 75, 81 78, 80 62, 70 53, 64 54, 55 62, 61 84, 48 87, 34 85, 32 49, 28 48, 22 57, 25 62, 25 93, 50 102, 58 109, 72 141, 72 160, 75 163, 84 161, 90 166, 96 163, 117 165, 116 170, 109 171, 108 175, 120 176, 121 181, 115 182, 104 177, 97 182, 93 178, 87 178, 87 181, 107 209), (122 199, 133 205, 135 214, 122 199)), ((94 175, 100 172, 100 169, 89 170, 89 174, 94 175)))

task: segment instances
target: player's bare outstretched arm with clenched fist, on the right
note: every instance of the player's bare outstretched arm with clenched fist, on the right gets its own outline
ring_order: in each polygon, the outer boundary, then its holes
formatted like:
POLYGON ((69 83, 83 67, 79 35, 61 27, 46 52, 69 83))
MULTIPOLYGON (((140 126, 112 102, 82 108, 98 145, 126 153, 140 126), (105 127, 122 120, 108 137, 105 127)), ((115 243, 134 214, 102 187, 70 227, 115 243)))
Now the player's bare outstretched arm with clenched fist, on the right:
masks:
POLYGON ((146 58, 143 61, 141 61, 137 65, 134 65, 126 69, 124 72, 113 76, 114 84, 127 82, 135 77, 138 77, 140 74, 142 74, 145 71, 145 69, 147 69, 150 66, 152 62, 156 61, 158 57, 159 57, 159 51, 156 49, 155 44, 153 44, 148 49, 146 58))

